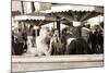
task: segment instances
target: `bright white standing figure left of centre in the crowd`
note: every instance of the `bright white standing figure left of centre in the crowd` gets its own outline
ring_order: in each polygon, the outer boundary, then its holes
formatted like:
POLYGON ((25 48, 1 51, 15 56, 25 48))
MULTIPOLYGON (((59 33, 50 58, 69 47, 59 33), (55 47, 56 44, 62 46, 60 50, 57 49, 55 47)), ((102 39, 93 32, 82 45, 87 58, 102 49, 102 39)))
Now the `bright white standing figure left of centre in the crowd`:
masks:
POLYGON ((36 56, 50 56, 49 40, 49 29, 46 27, 41 28, 39 36, 36 38, 36 56))

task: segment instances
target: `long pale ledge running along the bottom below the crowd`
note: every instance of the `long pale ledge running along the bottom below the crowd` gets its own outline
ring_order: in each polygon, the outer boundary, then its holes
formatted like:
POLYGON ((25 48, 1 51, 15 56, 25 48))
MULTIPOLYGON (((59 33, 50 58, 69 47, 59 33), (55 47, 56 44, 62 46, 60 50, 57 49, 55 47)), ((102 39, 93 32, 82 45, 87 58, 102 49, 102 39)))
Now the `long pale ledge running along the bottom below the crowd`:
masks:
POLYGON ((102 54, 13 57, 12 72, 104 66, 102 54))

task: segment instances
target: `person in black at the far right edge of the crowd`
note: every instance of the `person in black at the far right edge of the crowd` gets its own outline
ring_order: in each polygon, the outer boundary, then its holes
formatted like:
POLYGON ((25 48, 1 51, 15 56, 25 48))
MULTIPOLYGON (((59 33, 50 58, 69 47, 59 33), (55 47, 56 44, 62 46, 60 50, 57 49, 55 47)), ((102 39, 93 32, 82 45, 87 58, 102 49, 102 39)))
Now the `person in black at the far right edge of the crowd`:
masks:
POLYGON ((104 35, 99 25, 95 25, 90 35, 92 53, 104 53, 104 35))

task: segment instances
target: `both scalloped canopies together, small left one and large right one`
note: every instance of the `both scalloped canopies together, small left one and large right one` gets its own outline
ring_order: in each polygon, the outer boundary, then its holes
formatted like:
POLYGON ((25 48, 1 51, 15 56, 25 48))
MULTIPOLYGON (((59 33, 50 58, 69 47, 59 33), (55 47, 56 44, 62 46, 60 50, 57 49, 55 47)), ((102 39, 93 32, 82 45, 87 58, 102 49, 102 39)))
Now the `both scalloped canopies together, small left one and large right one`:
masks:
POLYGON ((84 22, 98 15, 104 15, 102 7, 56 4, 52 5, 50 10, 16 15, 14 16, 14 20, 34 22, 37 26, 60 21, 65 25, 72 26, 73 22, 84 22))

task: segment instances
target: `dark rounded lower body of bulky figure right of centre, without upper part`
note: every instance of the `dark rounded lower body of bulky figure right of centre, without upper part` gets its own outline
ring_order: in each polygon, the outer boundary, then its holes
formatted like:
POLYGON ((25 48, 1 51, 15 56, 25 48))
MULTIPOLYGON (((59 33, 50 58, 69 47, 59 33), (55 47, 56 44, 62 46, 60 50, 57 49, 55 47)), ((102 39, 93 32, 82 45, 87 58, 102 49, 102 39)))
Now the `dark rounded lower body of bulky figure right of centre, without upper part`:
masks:
POLYGON ((88 46, 83 38, 73 38, 68 46, 66 54, 87 54, 88 46))

